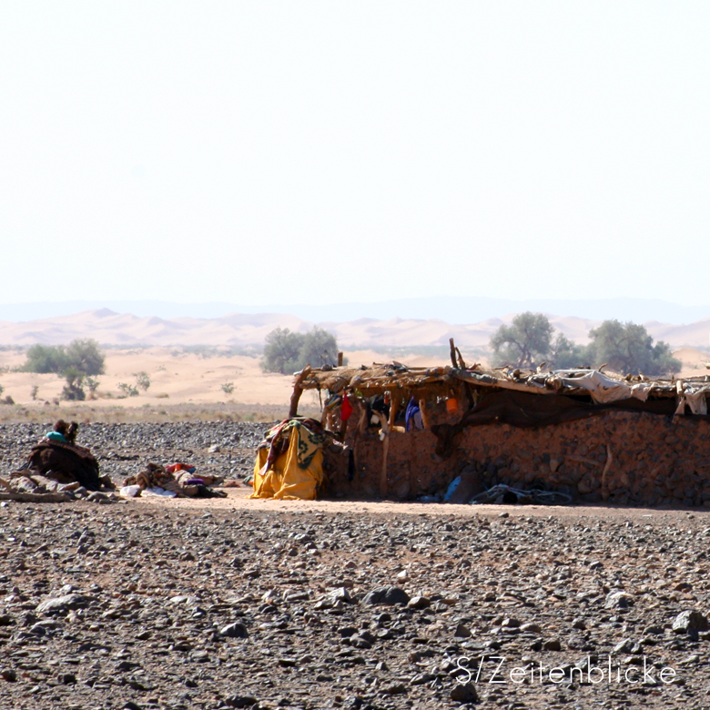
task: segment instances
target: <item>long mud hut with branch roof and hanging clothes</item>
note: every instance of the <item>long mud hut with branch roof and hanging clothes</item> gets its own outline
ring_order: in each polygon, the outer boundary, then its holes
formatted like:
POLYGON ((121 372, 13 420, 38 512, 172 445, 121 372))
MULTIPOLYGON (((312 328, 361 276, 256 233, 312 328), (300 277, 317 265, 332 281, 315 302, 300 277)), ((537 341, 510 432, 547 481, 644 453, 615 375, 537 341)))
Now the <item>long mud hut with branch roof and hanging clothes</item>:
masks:
POLYGON ((452 347, 445 367, 306 368, 291 416, 313 389, 322 424, 351 451, 326 452, 330 495, 417 499, 463 475, 471 491, 506 483, 579 502, 710 507, 710 376, 482 370, 452 347))

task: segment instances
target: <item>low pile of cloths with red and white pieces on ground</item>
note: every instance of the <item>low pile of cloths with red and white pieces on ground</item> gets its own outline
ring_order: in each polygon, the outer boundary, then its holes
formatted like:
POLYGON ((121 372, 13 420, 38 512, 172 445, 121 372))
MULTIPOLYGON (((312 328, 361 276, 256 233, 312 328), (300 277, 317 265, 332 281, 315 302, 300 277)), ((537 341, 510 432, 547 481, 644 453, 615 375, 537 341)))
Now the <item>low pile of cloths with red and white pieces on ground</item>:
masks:
POLYGON ((196 474, 188 463, 160 466, 148 463, 146 470, 129 476, 123 483, 121 495, 135 498, 140 495, 163 495, 168 498, 226 498, 224 491, 214 491, 211 486, 224 482, 221 476, 196 474))

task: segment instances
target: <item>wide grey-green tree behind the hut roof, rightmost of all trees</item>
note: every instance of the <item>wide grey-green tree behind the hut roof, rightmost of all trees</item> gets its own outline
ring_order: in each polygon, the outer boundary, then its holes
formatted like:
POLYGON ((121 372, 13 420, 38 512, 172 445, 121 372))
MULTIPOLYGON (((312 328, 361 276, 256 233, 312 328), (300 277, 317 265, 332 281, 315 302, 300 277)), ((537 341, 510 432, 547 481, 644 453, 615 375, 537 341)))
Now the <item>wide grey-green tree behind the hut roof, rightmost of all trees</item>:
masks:
POLYGON ((639 374, 660 377, 675 374, 682 363, 673 357, 670 346, 663 340, 654 345, 654 339, 643 325, 604 320, 589 331, 591 342, 588 352, 595 367, 604 363, 622 374, 639 374))

